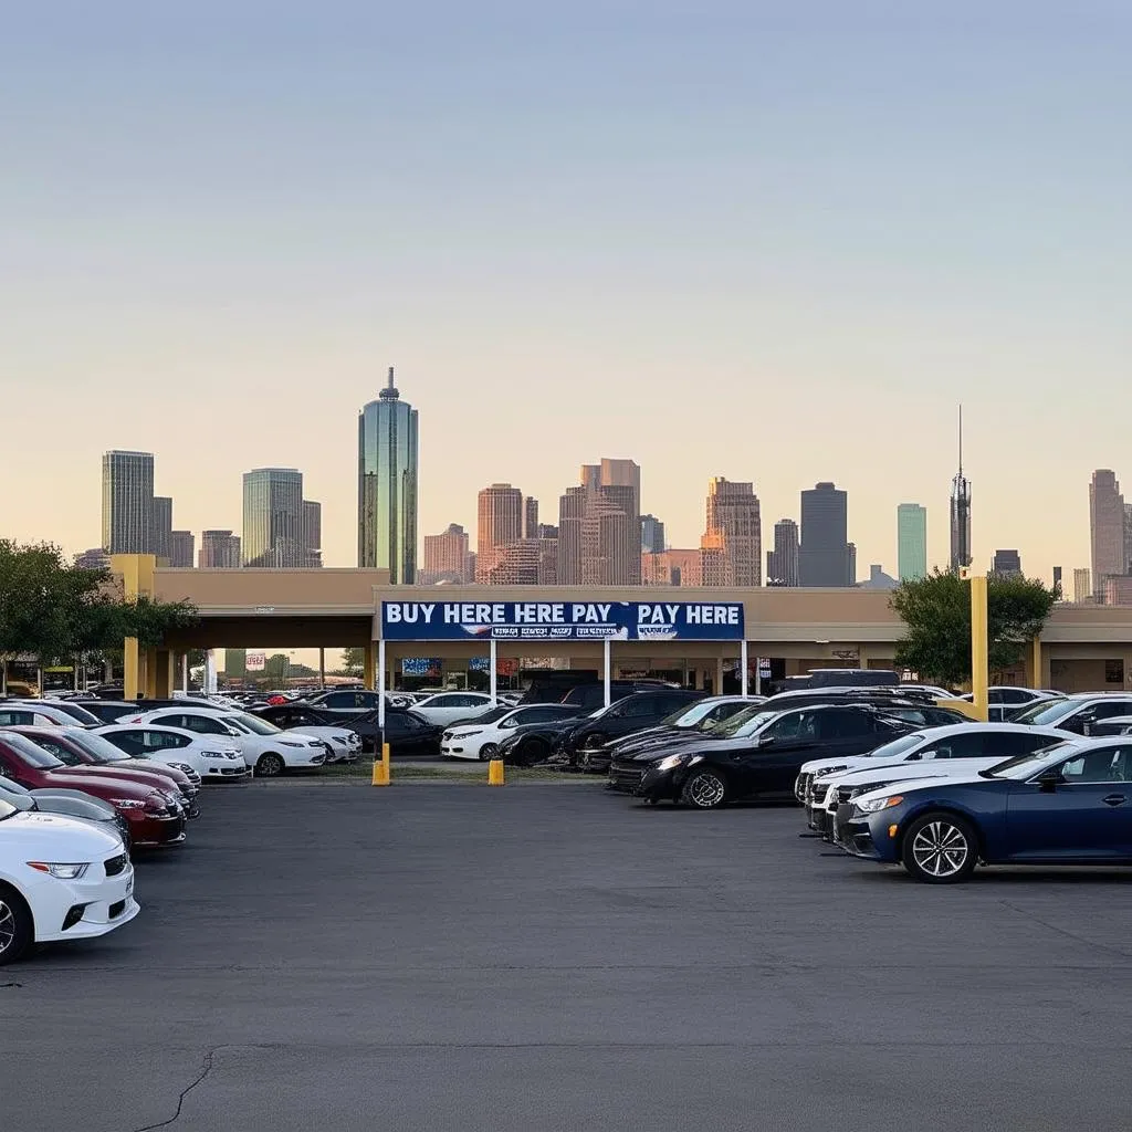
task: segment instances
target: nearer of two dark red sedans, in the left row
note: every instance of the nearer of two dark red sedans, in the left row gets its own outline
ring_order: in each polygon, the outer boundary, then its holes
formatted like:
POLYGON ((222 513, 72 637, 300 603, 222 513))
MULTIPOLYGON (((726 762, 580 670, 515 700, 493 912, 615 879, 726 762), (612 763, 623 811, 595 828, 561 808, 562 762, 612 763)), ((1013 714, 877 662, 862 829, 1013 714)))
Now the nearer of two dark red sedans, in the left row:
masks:
POLYGON ((82 790, 109 801, 130 823, 130 838, 137 848, 185 840, 185 811, 172 795, 128 782, 111 770, 68 767, 23 735, 0 731, 0 775, 27 790, 82 790))

